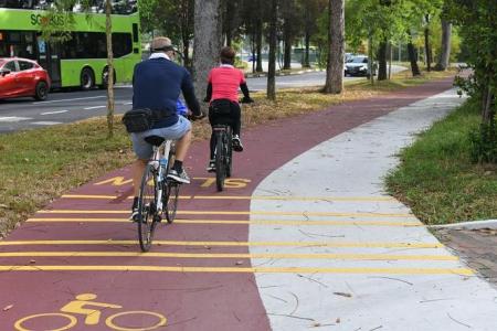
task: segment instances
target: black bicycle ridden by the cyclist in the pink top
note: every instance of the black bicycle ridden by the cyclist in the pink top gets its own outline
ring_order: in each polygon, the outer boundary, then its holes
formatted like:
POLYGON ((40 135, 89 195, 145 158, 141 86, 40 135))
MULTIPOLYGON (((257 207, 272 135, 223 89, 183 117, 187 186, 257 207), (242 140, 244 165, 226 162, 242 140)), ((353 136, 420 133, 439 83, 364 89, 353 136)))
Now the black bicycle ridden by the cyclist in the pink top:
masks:
POLYGON ((233 132, 230 125, 214 125, 212 130, 215 137, 215 185, 221 192, 225 178, 230 178, 233 170, 233 132))

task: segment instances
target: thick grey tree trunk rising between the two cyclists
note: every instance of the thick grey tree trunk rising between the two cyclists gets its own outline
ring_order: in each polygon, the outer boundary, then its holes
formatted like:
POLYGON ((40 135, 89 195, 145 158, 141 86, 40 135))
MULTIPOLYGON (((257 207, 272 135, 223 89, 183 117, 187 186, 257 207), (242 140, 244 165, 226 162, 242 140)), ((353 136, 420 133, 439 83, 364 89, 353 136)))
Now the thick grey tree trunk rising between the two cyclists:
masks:
POLYGON ((197 94, 202 95, 222 46, 220 0, 195 0, 194 18, 193 83, 197 94))

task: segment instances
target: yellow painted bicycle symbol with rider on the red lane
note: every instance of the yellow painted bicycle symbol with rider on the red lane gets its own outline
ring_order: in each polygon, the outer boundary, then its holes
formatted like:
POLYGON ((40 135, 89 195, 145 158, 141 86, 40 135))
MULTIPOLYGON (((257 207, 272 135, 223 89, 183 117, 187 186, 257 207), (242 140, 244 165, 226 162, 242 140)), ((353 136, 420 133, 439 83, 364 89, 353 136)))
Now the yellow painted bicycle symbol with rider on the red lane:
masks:
MULTIPOLYGON (((46 312, 46 313, 28 316, 28 317, 24 317, 24 318, 18 320, 14 324, 14 328, 17 331, 36 331, 35 329, 27 329, 23 325, 27 325, 27 324, 34 325, 33 320, 49 317, 49 318, 63 318, 63 319, 67 320, 68 322, 67 322, 67 324, 65 324, 63 327, 57 327, 59 329, 49 330, 49 329, 44 328, 43 331, 65 331, 65 330, 73 328, 77 323, 77 319, 73 314, 84 314, 84 316, 86 316, 85 317, 86 325, 96 325, 96 324, 98 324, 98 322, 101 320, 102 311, 99 311, 97 309, 86 308, 87 306, 99 307, 99 308, 114 308, 114 309, 123 308, 121 306, 118 306, 118 305, 92 301, 92 300, 95 300, 96 298, 97 298, 97 296, 93 295, 93 293, 78 295, 78 296, 76 296, 76 300, 71 301, 67 305, 65 305, 64 307, 62 307, 61 312, 46 312), (72 314, 70 314, 70 313, 72 313, 72 314)), ((165 316, 162 316, 158 312, 141 311, 141 310, 118 312, 118 313, 109 316, 105 320, 105 324, 108 328, 110 328, 112 330, 119 330, 119 331, 155 330, 159 327, 166 325, 166 322, 167 322, 167 319, 165 316), (150 325, 147 328, 140 327, 137 329, 137 328, 119 327, 116 324, 115 319, 123 317, 123 316, 150 316, 150 317, 157 318, 158 321, 154 325, 150 325)))

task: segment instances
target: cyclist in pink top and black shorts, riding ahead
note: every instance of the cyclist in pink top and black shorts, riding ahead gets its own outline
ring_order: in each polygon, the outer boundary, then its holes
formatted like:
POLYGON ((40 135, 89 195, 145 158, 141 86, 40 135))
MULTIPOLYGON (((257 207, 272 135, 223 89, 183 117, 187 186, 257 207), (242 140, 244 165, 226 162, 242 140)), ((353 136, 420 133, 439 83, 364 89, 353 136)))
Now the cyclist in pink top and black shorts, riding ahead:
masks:
MULTIPOLYGON (((242 103, 253 103, 246 86, 245 76, 242 71, 233 66, 235 51, 225 46, 221 50, 221 65, 209 73, 209 84, 204 102, 210 102, 209 122, 214 125, 230 125, 233 129, 233 150, 243 151, 240 139, 241 108, 239 105, 239 87, 243 92, 242 103)), ((207 170, 215 171, 214 161, 215 137, 211 135, 211 157, 207 170)))

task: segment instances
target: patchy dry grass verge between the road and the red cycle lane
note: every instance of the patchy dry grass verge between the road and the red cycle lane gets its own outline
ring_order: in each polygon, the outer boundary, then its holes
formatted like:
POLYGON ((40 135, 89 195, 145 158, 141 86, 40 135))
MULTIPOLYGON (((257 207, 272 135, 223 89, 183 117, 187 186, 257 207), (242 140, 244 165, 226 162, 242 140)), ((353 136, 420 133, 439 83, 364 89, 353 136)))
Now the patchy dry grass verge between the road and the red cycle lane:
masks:
MULTIPOLYGON (((412 78, 405 72, 374 86, 361 79, 347 84, 342 95, 325 95, 317 88, 288 89, 279 90, 277 100, 269 102, 264 94, 255 94, 256 103, 244 106, 243 124, 246 128, 453 74, 412 78)), ((115 121, 113 139, 107 139, 105 117, 0 136, 0 237, 53 199, 134 160, 120 116, 115 121)), ((197 140, 207 139, 208 121, 195 122, 193 134, 197 140)))

